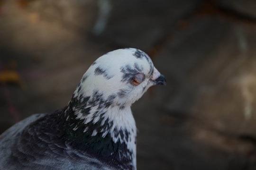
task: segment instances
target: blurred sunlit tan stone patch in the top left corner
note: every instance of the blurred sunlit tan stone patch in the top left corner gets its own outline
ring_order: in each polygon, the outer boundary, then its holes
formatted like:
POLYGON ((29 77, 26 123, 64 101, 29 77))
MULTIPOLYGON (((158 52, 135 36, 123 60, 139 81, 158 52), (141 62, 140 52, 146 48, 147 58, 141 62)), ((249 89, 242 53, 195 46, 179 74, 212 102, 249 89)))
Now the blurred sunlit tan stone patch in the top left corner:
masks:
POLYGON ((1 47, 44 53, 81 39, 97 17, 97 0, 19 1, 8 0, 1 5, 5 9, 0 15, 1 47))

